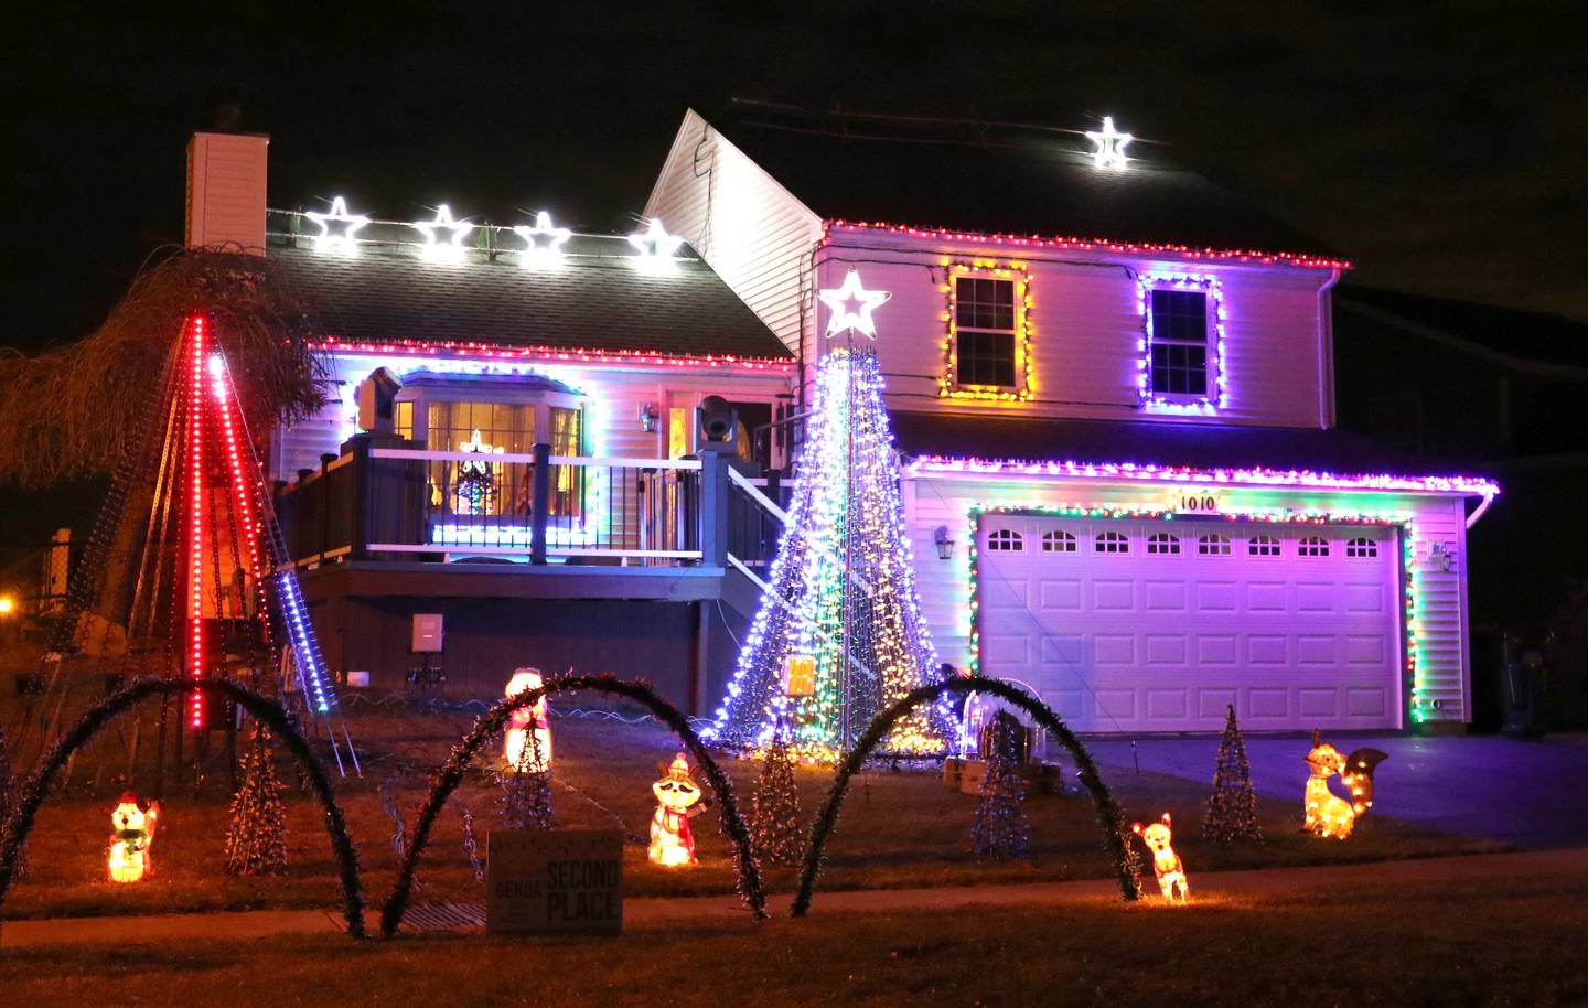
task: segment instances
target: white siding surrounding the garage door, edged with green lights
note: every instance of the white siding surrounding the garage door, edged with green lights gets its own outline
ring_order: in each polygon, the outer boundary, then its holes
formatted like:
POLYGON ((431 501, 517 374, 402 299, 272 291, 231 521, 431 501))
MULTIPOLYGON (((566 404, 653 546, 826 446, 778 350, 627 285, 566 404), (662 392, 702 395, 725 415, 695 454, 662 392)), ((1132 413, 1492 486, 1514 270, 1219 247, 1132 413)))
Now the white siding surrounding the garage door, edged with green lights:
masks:
MULTIPOLYGON (((1458 497, 1423 494, 1359 494, 1343 491, 1270 491, 1224 487, 1226 506, 1291 506, 1337 513, 1363 510, 1412 514, 1415 560, 1418 683, 1428 721, 1463 722, 1470 718, 1469 675, 1466 668, 1466 521, 1458 497), (1429 543, 1453 546, 1456 564, 1440 573, 1428 564, 1429 543), (1439 710, 1432 702, 1439 700, 1439 710)), ((1162 506, 1166 486, 1108 484, 1085 479, 964 479, 918 476, 904 483, 910 544, 915 552, 921 611, 945 662, 970 662, 970 559, 967 540, 972 505, 985 506, 1162 506), (948 525, 954 556, 937 559, 934 530, 948 525)))

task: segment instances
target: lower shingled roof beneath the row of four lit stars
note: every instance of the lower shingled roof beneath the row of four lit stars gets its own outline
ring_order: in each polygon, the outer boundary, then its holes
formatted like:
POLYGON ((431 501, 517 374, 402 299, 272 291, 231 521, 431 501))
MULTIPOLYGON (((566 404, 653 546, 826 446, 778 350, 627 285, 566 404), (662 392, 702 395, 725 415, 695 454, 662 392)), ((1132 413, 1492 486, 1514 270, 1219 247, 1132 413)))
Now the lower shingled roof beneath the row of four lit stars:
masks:
POLYGON ((522 268, 515 252, 434 264, 411 244, 372 243, 356 257, 308 244, 272 235, 265 256, 316 338, 792 359, 688 246, 653 273, 635 268, 621 237, 575 237, 545 270, 522 268))

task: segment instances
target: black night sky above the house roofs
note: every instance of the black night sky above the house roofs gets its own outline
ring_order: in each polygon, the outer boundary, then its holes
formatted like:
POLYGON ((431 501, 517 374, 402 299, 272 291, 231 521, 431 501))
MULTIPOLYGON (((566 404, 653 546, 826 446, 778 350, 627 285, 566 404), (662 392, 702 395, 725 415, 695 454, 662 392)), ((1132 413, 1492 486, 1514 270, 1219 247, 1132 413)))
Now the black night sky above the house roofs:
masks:
POLYGON ((546 206, 600 230, 640 210, 691 103, 1112 113, 1347 251, 1364 283, 1588 319, 1588 57, 1564 5, 426 8, 445 24, 332 6, 160 24, 133 5, 119 16, 137 21, 56 11, 8 32, 0 341, 87 333, 179 240, 183 144, 224 100, 273 138, 275 205, 546 206))

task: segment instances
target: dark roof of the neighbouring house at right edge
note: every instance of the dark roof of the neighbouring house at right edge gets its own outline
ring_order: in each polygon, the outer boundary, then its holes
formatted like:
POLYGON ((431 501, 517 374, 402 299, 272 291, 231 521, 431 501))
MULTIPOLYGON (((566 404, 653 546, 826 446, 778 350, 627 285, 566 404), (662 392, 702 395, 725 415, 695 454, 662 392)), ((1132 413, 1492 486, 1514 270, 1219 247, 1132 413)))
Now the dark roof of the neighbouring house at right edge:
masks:
POLYGON ((1336 287, 1336 332, 1382 325, 1515 371, 1588 371, 1588 322, 1542 311, 1361 287, 1336 287))

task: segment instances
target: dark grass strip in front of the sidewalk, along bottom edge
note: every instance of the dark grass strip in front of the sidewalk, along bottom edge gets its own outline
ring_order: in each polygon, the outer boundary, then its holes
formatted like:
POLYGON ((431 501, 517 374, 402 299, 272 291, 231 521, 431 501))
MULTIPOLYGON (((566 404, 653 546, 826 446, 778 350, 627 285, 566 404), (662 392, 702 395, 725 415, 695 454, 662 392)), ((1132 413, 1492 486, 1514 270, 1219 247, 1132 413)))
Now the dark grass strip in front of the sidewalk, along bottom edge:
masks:
POLYGON ((1582 1005, 1585 930, 1588 878, 1494 878, 1186 908, 818 911, 610 940, 57 946, 0 956, 0 991, 40 1006, 1582 1005))

